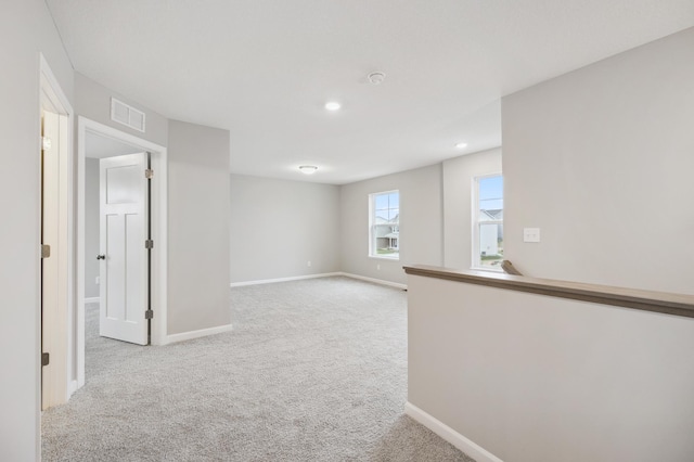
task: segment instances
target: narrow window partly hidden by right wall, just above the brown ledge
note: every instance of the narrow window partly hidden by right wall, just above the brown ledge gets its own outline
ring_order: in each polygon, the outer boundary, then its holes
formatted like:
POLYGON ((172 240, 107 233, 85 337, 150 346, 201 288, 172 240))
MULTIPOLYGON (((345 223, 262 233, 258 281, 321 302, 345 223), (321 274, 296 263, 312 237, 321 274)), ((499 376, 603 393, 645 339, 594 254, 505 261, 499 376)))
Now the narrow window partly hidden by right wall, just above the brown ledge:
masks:
POLYGON ((473 268, 501 271, 503 261, 503 177, 475 179, 473 268))

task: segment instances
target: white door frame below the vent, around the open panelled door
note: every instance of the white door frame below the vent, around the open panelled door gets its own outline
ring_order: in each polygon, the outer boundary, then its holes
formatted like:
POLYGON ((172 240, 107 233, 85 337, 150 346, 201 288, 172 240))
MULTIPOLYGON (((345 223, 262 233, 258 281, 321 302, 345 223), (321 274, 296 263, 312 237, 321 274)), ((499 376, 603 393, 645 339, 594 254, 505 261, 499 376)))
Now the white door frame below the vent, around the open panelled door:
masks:
MULTIPOLYGON (((100 124, 87 117, 77 118, 77 317, 76 362, 77 387, 85 384, 85 165, 87 132, 130 144, 152 154, 152 344, 166 344, 167 335, 167 254, 168 254, 168 156, 165 146, 100 124)), ((144 175, 144 172, 143 172, 144 175)), ((144 243, 143 243, 144 245, 144 243)))

